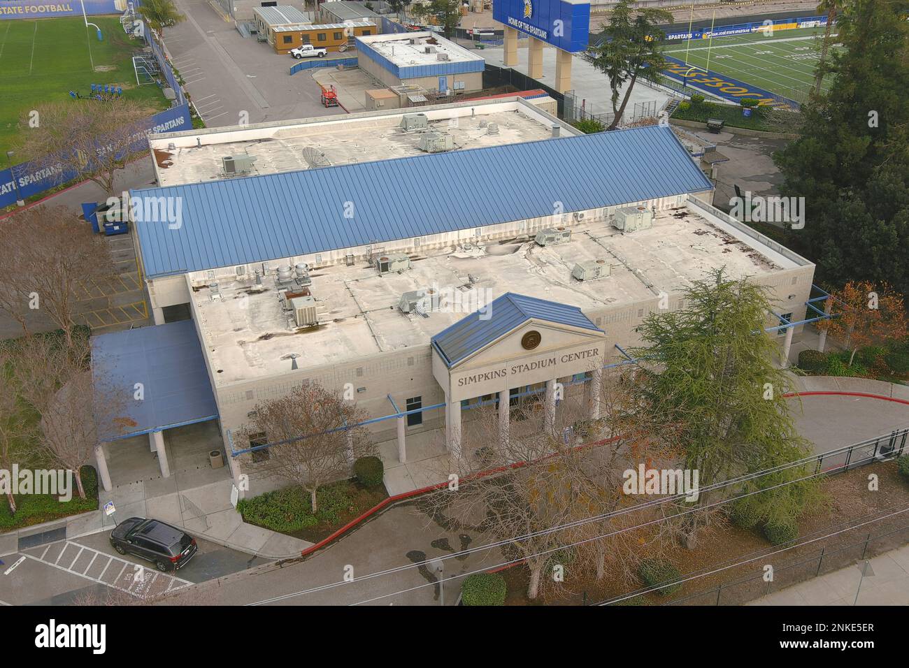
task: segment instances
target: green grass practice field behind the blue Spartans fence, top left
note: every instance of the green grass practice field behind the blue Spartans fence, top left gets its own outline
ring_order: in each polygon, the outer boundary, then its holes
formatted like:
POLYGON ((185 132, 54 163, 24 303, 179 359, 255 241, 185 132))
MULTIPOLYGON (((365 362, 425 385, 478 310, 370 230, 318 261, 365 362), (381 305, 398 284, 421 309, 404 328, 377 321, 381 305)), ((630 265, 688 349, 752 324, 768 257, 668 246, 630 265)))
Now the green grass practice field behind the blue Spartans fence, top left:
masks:
MULTIPOLYGON (((69 91, 88 95, 92 84, 122 86, 125 99, 144 102, 154 111, 170 103, 157 85, 135 85, 130 40, 115 16, 93 16, 101 27, 85 28, 82 17, 0 21, 0 148, 5 154, 19 124, 42 102, 67 101, 69 91)), ((3 165, 6 166, 6 165, 3 165)))

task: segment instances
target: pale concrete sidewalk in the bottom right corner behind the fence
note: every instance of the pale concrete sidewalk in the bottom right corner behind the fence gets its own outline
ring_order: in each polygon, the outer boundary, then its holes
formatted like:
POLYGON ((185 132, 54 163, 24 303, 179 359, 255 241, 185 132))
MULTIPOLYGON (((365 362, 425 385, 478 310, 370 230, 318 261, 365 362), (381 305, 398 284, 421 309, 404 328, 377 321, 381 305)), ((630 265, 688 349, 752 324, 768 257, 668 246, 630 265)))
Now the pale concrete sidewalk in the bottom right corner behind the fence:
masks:
POLYGON ((868 563, 874 575, 862 577, 861 561, 767 594, 748 605, 909 605, 909 545, 880 554, 868 563))

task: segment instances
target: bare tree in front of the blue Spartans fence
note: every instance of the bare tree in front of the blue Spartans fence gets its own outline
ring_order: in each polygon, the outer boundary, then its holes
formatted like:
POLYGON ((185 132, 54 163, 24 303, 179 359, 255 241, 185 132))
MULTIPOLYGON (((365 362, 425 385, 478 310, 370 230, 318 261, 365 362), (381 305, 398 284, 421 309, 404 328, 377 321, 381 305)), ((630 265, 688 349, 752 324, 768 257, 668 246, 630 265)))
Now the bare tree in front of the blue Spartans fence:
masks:
POLYGON ((154 111, 130 100, 70 100, 37 105, 24 121, 18 153, 55 174, 57 184, 70 179, 93 181, 114 194, 117 170, 148 150, 141 140, 154 111))

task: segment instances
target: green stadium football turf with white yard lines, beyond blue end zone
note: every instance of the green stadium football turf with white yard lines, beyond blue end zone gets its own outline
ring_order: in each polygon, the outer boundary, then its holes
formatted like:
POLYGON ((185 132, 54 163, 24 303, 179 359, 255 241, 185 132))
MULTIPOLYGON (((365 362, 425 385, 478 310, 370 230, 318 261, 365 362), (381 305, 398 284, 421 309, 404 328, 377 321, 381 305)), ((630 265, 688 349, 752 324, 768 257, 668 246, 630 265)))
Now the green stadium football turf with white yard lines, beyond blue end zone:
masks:
MULTIPOLYGON (((814 86, 814 67, 820 55, 818 35, 824 35, 823 27, 774 30, 769 36, 762 32, 727 35, 714 37, 712 44, 693 39, 670 43, 665 53, 801 103, 814 86)), ((835 48, 831 46, 831 50, 835 48)), ((829 84, 828 77, 821 87, 825 90, 829 84)))

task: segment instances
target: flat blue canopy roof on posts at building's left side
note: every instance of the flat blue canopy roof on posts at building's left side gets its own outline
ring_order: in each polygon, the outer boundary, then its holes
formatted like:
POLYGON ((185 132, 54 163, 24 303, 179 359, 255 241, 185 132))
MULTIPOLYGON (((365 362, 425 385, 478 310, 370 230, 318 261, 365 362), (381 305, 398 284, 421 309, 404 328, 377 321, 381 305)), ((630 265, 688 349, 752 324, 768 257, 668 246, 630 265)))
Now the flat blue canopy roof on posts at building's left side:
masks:
POLYGON ((118 424, 98 425, 104 441, 218 416, 191 320, 93 336, 92 374, 99 387, 126 397, 118 424), (143 385, 141 400, 135 399, 137 383, 143 385))

